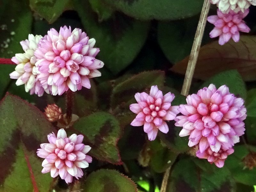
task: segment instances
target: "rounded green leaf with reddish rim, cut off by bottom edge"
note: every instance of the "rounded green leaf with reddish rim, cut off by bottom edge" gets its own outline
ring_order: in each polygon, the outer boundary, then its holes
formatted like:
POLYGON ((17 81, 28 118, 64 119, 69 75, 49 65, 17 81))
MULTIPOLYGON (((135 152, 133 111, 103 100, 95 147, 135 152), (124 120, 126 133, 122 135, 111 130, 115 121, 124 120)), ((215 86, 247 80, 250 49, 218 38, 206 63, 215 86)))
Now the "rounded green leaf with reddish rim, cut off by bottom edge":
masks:
POLYGON ((138 192, 131 179, 115 170, 100 169, 86 179, 84 191, 138 192))

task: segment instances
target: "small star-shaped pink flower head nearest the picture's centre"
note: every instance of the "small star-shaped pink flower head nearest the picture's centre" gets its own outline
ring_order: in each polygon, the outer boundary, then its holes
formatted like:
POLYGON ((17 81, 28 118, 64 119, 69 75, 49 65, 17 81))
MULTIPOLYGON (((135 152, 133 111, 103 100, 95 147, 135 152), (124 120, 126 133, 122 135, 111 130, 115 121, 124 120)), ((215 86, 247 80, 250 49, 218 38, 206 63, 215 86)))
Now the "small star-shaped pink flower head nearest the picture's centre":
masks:
POLYGON ((148 133, 149 140, 156 139, 158 130, 167 133, 169 128, 165 121, 174 120, 179 113, 178 106, 171 106, 174 97, 171 92, 163 96, 157 85, 151 87, 149 95, 145 92, 136 93, 138 103, 131 104, 130 110, 138 115, 131 125, 144 125, 144 132, 148 133))

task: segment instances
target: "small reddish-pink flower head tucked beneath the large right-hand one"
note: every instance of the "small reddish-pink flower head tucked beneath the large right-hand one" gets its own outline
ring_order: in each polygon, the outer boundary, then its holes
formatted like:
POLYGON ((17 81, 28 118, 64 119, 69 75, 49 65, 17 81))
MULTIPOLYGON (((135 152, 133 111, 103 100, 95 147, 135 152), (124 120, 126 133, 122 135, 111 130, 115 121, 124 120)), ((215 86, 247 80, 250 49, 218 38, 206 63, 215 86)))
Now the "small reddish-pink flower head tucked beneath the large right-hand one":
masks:
POLYGON ((224 166, 224 162, 227 159, 228 155, 232 153, 234 153, 233 148, 220 148, 219 152, 217 153, 213 152, 211 148, 208 148, 203 153, 198 150, 196 152, 196 156, 200 159, 207 159, 209 163, 214 163, 217 167, 221 168, 224 166))

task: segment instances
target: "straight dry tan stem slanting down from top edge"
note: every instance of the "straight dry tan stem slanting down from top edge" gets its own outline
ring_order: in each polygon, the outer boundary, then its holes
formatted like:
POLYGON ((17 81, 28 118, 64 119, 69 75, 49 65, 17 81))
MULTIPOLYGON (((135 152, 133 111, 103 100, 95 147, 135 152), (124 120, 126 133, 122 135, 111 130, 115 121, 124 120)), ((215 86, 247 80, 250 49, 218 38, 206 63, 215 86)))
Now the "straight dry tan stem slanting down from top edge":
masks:
POLYGON ((181 90, 181 94, 184 96, 188 95, 188 92, 191 86, 191 81, 196 68, 196 62, 198 58, 199 49, 202 43, 202 38, 204 35, 204 28, 205 28, 209 9, 210 9, 210 0, 204 0, 202 12, 201 12, 200 19, 196 29, 196 35, 194 38, 193 46, 192 46, 189 60, 188 60, 188 67, 187 67, 184 83, 181 90))

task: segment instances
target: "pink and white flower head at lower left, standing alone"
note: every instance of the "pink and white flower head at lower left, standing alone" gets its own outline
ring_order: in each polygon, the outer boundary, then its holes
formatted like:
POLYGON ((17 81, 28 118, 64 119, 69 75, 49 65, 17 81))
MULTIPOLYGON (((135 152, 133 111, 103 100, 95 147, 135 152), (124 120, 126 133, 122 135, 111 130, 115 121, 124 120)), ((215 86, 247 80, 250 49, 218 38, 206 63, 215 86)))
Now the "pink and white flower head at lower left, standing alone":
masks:
POLYGON ((87 168, 92 162, 92 157, 87 154, 91 147, 82 143, 84 136, 72 134, 67 137, 64 129, 48 136, 49 143, 42 143, 37 149, 37 156, 44 158, 42 173, 51 172, 51 176, 60 175, 66 183, 71 183, 73 177, 81 178, 84 172, 81 168, 87 168))

